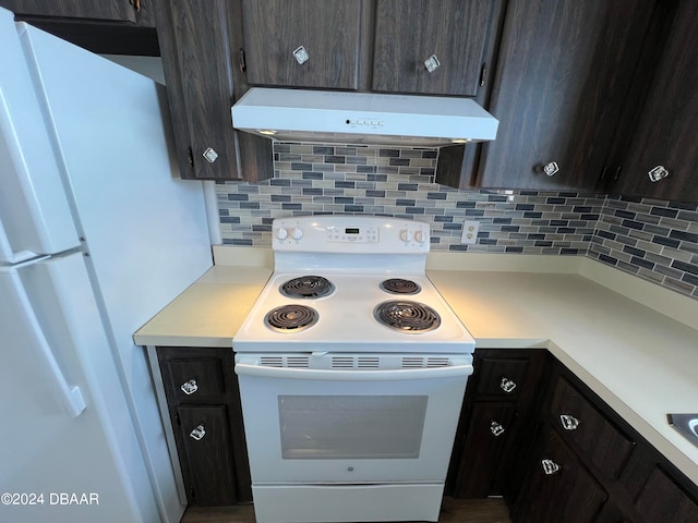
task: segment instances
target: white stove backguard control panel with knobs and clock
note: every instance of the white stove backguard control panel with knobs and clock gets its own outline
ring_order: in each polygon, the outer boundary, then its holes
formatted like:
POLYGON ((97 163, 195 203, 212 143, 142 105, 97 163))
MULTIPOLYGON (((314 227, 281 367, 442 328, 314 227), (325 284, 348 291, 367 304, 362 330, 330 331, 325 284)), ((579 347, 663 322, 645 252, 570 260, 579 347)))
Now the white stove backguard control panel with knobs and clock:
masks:
POLYGON ((428 253, 429 223, 378 216, 320 215, 277 218, 275 251, 306 253, 428 253))

